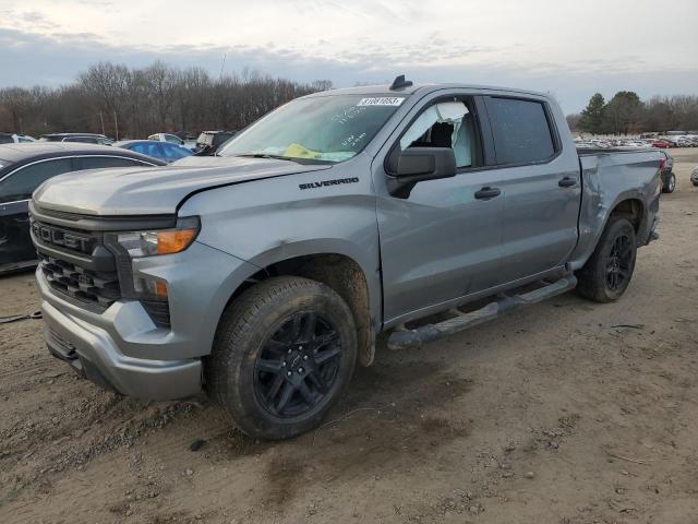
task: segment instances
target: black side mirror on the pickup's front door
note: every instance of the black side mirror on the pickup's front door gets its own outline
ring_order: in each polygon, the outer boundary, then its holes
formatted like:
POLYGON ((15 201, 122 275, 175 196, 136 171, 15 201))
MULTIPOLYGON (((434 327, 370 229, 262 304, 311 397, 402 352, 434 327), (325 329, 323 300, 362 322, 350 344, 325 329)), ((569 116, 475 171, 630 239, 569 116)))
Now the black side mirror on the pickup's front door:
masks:
POLYGON ((408 147, 396 150, 392 165, 395 172, 388 177, 388 191, 393 196, 406 199, 417 182, 456 176, 456 155, 450 147, 408 147))

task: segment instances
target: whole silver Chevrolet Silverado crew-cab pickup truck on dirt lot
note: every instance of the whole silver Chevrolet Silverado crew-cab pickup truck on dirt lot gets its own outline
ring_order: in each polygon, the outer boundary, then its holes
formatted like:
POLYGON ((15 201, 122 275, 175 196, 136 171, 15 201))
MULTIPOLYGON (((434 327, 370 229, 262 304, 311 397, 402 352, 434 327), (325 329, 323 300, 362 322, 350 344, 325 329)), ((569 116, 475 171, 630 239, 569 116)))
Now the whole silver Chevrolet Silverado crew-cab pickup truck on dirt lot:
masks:
POLYGON ((288 438, 372 364, 378 332, 418 347, 573 288, 618 299, 657 236, 659 166, 578 152, 539 93, 316 93, 217 156, 37 189, 48 348, 121 394, 205 390, 242 431, 288 438))

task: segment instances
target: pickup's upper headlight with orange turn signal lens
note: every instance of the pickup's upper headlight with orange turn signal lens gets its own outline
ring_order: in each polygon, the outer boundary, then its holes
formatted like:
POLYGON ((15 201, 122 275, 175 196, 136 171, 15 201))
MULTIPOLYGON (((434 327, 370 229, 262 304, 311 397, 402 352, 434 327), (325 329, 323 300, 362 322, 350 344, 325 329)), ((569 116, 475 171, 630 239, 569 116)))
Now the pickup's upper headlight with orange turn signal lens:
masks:
POLYGON ((132 259, 184 251, 196 238, 201 223, 197 216, 179 218, 173 229, 128 231, 117 235, 117 241, 132 259))

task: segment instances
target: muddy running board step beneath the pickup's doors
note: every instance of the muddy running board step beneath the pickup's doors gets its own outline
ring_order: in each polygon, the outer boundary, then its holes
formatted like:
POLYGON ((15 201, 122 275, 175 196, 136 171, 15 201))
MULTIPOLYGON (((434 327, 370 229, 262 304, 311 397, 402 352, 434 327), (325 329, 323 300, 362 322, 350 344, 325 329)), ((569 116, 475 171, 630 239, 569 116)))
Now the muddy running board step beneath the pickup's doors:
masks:
POLYGON ((575 275, 567 275, 559 281, 547 284, 522 295, 500 295, 495 301, 488 303, 481 309, 464 313, 452 310, 455 314, 453 319, 444 320, 436 324, 426 324, 416 330, 397 329, 388 338, 389 349, 407 349, 421 347, 423 344, 436 341, 437 338, 453 335, 469 327, 482 324, 489 320, 500 317, 506 311, 540 302, 546 298, 567 293, 577 287, 575 275))

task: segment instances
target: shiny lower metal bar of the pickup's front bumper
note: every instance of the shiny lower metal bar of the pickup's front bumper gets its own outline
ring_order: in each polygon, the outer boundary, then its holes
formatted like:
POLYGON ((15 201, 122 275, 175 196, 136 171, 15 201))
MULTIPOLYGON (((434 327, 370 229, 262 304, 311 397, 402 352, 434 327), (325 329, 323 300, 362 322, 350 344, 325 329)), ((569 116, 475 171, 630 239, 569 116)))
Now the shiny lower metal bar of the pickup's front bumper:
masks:
POLYGON ((41 302, 49 352, 79 374, 128 396, 171 400, 201 391, 201 359, 149 360, 123 355, 105 330, 41 302))

